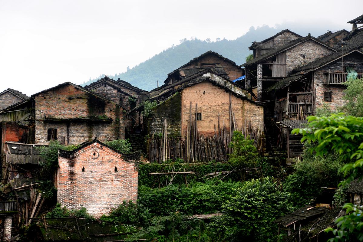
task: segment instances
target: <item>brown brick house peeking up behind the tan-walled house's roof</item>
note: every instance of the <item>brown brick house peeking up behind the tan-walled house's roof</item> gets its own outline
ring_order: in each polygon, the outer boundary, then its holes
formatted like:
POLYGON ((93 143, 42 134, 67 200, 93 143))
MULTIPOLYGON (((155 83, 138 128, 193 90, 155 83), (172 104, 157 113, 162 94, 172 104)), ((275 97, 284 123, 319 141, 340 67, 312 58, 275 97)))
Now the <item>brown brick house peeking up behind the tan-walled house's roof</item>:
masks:
POLYGON ((172 84, 205 68, 231 81, 244 75, 244 69, 237 66, 235 62, 209 50, 169 73, 164 83, 172 84))

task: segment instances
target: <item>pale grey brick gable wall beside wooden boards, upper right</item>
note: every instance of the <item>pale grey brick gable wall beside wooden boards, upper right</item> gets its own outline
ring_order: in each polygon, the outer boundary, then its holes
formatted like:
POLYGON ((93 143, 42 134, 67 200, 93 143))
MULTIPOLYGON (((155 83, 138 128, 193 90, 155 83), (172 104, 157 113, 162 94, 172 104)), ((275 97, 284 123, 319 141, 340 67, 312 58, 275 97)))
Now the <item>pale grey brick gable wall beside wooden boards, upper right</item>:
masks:
POLYGON ((310 62, 334 53, 333 50, 318 44, 313 40, 305 41, 291 49, 286 50, 286 77, 294 69, 307 65, 310 62))

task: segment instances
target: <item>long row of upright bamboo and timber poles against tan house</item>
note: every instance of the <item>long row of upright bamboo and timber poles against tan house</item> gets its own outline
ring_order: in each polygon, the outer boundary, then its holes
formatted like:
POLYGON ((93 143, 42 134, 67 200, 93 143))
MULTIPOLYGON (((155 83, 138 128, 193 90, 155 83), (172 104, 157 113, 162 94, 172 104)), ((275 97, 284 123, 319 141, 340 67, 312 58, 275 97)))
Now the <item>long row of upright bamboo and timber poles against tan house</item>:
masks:
MULTIPOLYGON (((168 137, 167 120, 164 120, 162 136, 153 134, 149 140, 148 159, 153 163, 163 163, 167 160, 175 161, 176 159, 182 159, 188 163, 227 161, 228 154, 232 153, 229 144, 232 142, 233 131, 238 130, 233 117, 231 120, 230 127, 232 129, 227 129, 223 121, 223 127, 220 127, 218 131, 215 127, 215 135, 204 136, 199 134, 196 120, 191 118, 191 122, 187 124, 185 140, 168 137)), ((254 140, 259 155, 263 156, 266 146, 264 132, 253 129, 250 123, 244 123, 239 130, 246 138, 254 140)))

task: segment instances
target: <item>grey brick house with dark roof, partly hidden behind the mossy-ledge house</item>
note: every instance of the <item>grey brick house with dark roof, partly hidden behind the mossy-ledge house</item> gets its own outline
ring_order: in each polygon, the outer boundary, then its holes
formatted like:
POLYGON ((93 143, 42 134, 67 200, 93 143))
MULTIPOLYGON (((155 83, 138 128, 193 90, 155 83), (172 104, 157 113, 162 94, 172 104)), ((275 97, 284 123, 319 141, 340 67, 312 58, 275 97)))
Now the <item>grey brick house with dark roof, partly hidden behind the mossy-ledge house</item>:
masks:
MULTIPOLYGON (((98 93, 120 106, 125 107, 129 111, 139 104, 139 94, 145 92, 145 90, 132 86, 130 83, 123 81, 120 78, 115 81, 109 77, 99 79, 98 81, 85 86, 85 89, 98 93)), ((127 115, 125 120, 126 131, 134 132, 136 129, 135 124, 138 119, 138 112, 127 115)))

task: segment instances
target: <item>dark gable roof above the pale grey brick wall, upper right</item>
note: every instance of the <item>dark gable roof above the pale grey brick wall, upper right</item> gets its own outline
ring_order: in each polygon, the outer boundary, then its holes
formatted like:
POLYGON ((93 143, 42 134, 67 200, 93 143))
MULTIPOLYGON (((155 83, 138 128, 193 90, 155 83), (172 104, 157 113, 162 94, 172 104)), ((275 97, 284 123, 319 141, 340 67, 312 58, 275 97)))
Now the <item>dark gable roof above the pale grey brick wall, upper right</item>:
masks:
POLYGON ((268 60, 269 58, 273 57, 273 56, 276 56, 277 54, 281 53, 281 52, 284 52, 285 50, 288 50, 290 48, 293 48, 294 46, 296 45, 299 45, 305 41, 308 41, 308 40, 313 40, 315 42, 317 42, 318 44, 321 44, 323 46, 325 46, 326 48, 329 48, 331 50, 334 50, 334 52, 337 52, 336 49, 334 48, 331 48, 329 45, 326 45, 325 43, 321 42, 320 40, 318 40, 317 38, 314 38, 313 36, 305 36, 305 37, 301 37, 301 38, 298 38, 296 40, 293 40, 293 41, 290 41, 289 43, 287 43, 286 45, 282 45, 274 50, 271 50, 270 52, 262 55, 262 56, 259 56, 253 60, 250 60, 249 62, 246 62, 240 66, 250 66, 250 65, 253 65, 253 64, 257 64, 257 63, 260 63, 262 61, 265 61, 265 60, 268 60))

